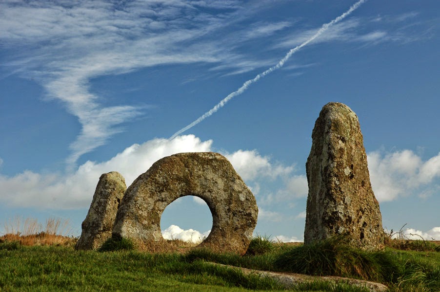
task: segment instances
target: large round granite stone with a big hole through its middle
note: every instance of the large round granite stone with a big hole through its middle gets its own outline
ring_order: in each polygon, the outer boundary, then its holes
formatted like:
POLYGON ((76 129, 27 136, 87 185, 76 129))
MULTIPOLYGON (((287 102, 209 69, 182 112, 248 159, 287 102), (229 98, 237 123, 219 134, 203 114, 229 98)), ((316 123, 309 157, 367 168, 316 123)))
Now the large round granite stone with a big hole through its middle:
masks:
POLYGON ((153 164, 127 189, 113 236, 131 238, 140 249, 162 250, 162 212, 187 195, 203 199, 212 213, 211 233, 198 247, 243 255, 257 224, 257 203, 229 161, 214 152, 179 153, 153 164))

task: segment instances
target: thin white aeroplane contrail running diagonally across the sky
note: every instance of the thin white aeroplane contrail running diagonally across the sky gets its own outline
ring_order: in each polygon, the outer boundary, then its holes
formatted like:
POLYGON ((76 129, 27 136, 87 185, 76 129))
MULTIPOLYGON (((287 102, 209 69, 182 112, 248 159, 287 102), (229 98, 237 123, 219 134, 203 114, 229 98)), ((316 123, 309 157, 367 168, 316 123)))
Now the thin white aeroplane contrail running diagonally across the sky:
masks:
POLYGON ((212 108, 211 110, 208 110, 207 112, 205 112, 202 116, 200 116, 197 120, 195 120, 194 122, 192 122, 191 124, 189 124, 188 126, 181 128, 179 131, 177 131, 176 133, 173 134, 173 136, 171 136, 169 138, 169 140, 174 139, 176 136, 180 135, 181 133, 183 133, 184 131, 193 128, 194 126, 196 126, 197 124, 199 124, 201 121, 203 121, 204 119, 206 119, 207 117, 211 116, 213 113, 215 113, 217 110, 220 110, 228 101, 230 101, 233 97, 240 95, 241 93, 243 93, 246 89, 248 89, 248 87, 257 82, 258 80, 260 80, 261 77, 264 77, 265 75, 274 72, 275 70, 280 69, 284 63, 290 58, 291 55, 295 54, 296 52, 298 52, 302 47, 306 46, 307 44, 309 44, 310 42, 312 42, 315 38, 319 37, 320 35, 322 35, 329 27, 331 27, 332 25, 340 22, 342 19, 346 18, 347 16, 349 16, 353 11, 355 11, 362 3, 366 2, 367 0, 359 0, 358 2, 356 2, 355 4, 351 5, 350 9, 348 9, 346 12, 344 12, 343 14, 341 14, 340 16, 338 16, 337 18, 333 19, 332 21, 325 23, 321 26, 321 28, 318 30, 318 32, 316 34, 314 34, 312 37, 310 37, 309 39, 307 39, 306 41, 304 41, 303 43, 301 43, 300 45, 296 46, 295 48, 291 49, 289 52, 287 52, 287 54, 277 63, 277 65, 270 67, 269 69, 267 69, 266 71, 258 74, 257 76, 255 76, 253 79, 249 79, 246 82, 243 83, 243 85, 241 85, 241 87, 234 91, 229 93, 228 96, 226 96, 225 98, 223 98, 214 108, 212 108))

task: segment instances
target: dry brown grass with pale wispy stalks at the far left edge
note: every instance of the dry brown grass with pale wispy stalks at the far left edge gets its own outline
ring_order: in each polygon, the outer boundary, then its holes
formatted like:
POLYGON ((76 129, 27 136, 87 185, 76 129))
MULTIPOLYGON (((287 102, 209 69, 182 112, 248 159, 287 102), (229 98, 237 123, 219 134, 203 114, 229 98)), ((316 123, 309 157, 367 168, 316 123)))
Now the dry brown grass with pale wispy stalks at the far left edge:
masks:
POLYGON ((44 227, 37 219, 22 219, 19 216, 4 223, 5 234, 0 236, 4 241, 18 241, 20 245, 64 245, 72 246, 77 238, 67 236, 70 232, 69 220, 60 218, 46 219, 44 227))

